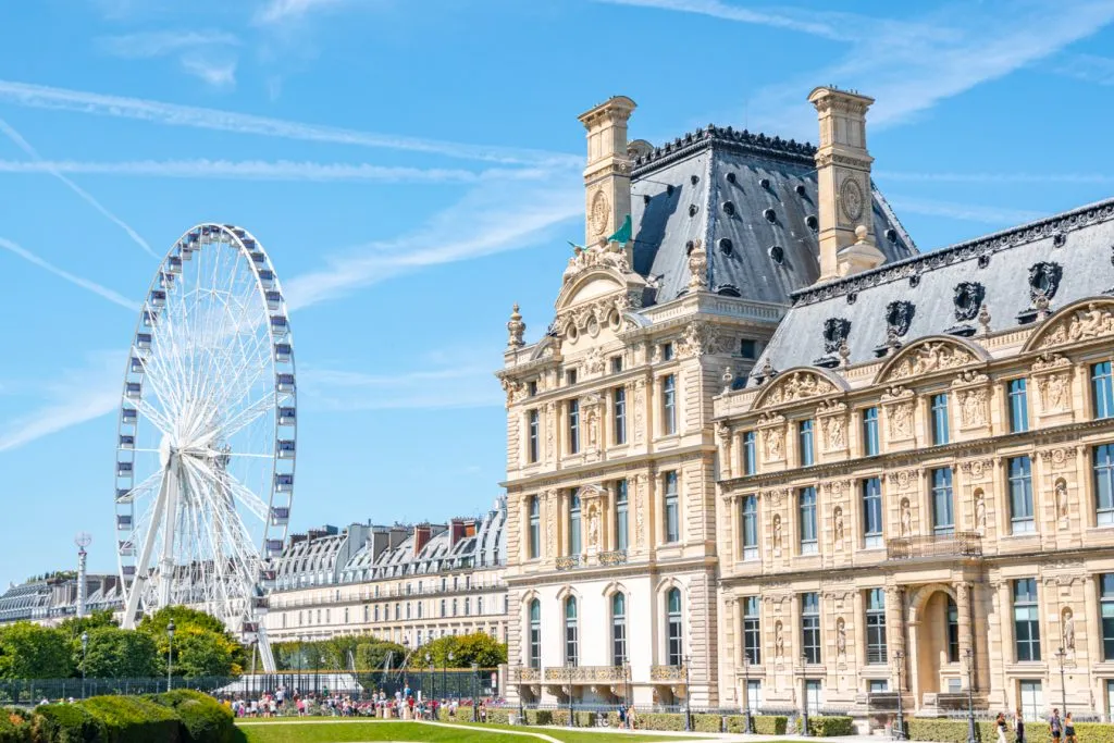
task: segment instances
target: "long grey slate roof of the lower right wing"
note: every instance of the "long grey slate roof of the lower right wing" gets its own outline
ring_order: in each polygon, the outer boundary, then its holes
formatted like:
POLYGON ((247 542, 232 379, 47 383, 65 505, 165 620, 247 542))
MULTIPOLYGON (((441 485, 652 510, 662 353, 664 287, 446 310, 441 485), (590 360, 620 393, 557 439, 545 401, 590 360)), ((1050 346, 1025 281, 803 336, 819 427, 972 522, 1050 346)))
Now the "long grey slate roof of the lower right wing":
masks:
POLYGON ((1112 252, 1114 199, 1108 199, 807 289, 793 295, 793 306, 755 369, 769 361, 775 371, 784 371, 830 355, 823 327, 832 317, 851 323, 849 361, 872 361, 874 350, 886 343, 887 310, 892 302, 911 302, 915 307, 908 332, 898 339, 902 343, 948 334, 962 325, 977 330, 976 319, 957 316, 956 286, 961 282, 983 286, 991 332, 1016 327, 1032 322, 1032 266, 1061 266, 1062 277, 1051 297, 1054 312, 1114 287, 1112 252))

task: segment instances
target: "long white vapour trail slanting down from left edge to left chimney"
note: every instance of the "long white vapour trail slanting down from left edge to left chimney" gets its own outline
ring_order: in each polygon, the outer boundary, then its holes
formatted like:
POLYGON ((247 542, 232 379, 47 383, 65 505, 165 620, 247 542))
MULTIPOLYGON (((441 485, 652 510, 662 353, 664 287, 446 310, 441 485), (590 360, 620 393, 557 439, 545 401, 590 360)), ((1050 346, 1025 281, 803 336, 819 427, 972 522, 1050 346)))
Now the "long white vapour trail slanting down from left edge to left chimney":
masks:
POLYGON ((514 147, 467 145, 438 139, 358 131, 338 127, 286 121, 213 108, 164 104, 143 98, 106 96, 82 90, 52 88, 0 80, 0 101, 29 108, 61 109, 117 118, 138 119, 167 126, 184 126, 235 134, 281 137, 359 147, 378 147, 442 155, 462 159, 518 165, 582 165, 583 158, 559 153, 514 147))

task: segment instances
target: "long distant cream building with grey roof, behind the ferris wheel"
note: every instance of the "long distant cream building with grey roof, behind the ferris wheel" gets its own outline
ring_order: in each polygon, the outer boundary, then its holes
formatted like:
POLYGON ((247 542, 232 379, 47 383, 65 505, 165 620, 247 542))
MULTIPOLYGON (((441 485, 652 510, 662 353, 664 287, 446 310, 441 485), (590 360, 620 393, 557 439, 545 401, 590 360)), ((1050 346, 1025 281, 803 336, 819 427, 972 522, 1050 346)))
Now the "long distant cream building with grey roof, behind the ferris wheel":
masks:
POLYGON ((353 524, 294 535, 272 565, 273 642, 370 634, 418 647, 444 635, 507 642, 506 502, 449 524, 353 524))

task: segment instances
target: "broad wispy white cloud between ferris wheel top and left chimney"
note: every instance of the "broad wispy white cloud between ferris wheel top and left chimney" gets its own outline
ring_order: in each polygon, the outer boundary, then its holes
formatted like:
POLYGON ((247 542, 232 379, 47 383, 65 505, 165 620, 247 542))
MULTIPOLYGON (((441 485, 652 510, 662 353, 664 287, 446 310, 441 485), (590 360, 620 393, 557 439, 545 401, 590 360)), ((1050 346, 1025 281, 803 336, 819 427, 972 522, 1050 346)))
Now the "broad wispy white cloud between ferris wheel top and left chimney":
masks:
POLYGON ((550 180, 473 189, 416 233, 334 254, 326 267, 285 282, 287 300, 304 307, 423 266, 535 245, 584 213, 584 190, 571 173, 550 180))

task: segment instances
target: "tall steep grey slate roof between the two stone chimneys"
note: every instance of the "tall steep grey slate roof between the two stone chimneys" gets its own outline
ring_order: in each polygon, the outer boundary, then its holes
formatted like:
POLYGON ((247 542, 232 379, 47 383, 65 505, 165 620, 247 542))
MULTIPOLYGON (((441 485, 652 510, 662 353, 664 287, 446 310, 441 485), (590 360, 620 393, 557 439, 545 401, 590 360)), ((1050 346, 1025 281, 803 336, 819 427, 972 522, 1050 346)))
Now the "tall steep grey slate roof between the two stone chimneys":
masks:
MULTIPOLYGON (((661 276, 654 301, 684 294, 688 245, 695 238, 707 248, 711 291, 789 304, 791 292, 815 282, 814 153, 808 144, 709 126, 636 159, 634 268, 661 276), (781 263, 770 255, 774 246, 782 252, 781 263)), ((873 219, 888 262, 917 254, 877 190, 873 219)))

